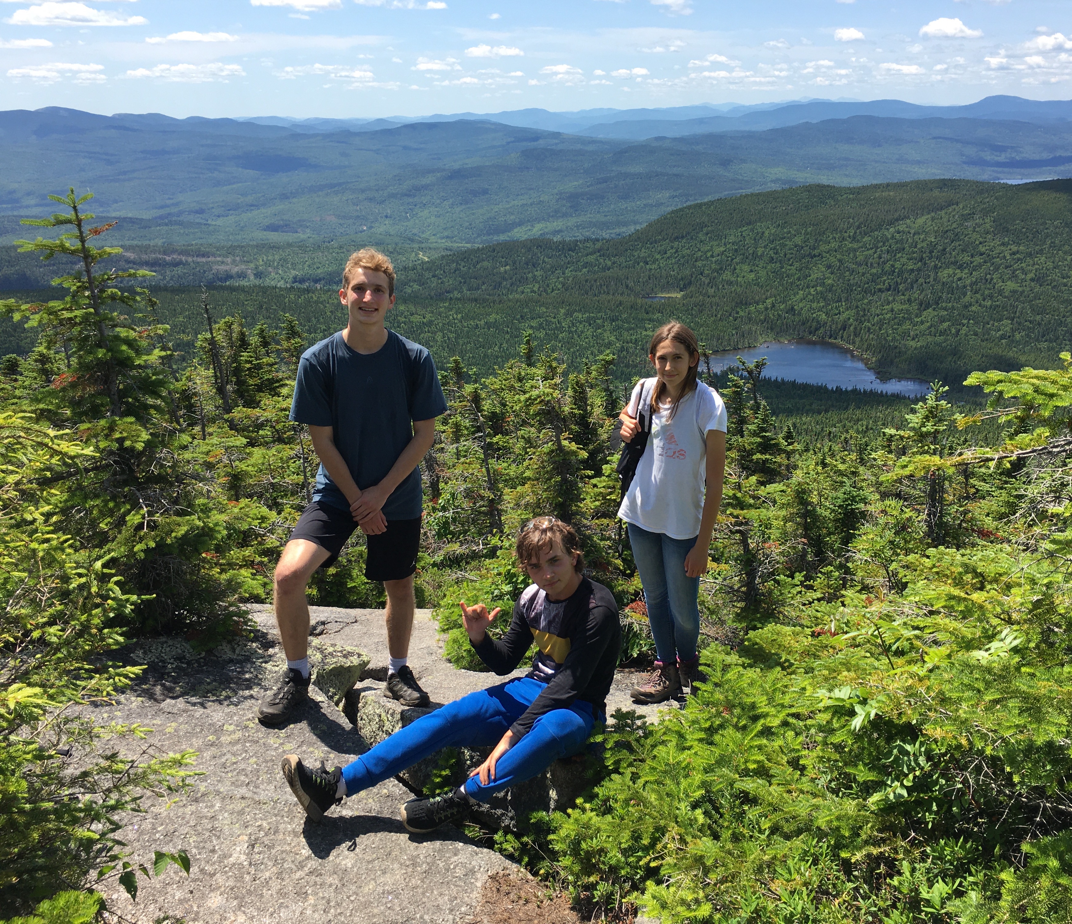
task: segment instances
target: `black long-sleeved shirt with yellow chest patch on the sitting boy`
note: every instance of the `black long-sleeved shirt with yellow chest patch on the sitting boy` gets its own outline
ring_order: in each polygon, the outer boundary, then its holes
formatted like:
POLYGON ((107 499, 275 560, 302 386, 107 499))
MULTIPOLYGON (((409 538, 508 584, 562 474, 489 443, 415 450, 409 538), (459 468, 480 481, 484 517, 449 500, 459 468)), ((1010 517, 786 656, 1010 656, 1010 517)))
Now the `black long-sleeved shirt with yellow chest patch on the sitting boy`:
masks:
POLYGON ((496 674, 508 674, 521 662, 535 639, 539 652, 525 675, 547 684, 511 727, 516 739, 527 734, 545 713, 569 709, 575 700, 607 712, 607 694, 622 649, 622 626, 614 596, 602 584, 581 580, 562 601, 547 599, 531 584, 513 607, 513 619, 502 639, 485 635, 473 645, 480 660, 496 674))

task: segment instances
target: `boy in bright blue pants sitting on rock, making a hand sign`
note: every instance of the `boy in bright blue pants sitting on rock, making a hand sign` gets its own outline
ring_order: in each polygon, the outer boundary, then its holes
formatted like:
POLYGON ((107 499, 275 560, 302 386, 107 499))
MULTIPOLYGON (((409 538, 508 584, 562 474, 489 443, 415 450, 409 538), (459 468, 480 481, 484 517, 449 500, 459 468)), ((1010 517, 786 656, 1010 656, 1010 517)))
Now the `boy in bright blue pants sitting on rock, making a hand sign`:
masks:
POLYGON ((518 536, 518 562, 534 581, 513 607, 502 640, 487 634, 498 610, 461 603, 462 620, 480 659, 496 674, 517 668, 535 639, 539 652, 523 677, 472 692, 394 732, 344 767, 310 770, 295 755, 283 776, 306 813, 319 820, 343 796, 394 776, 444 747, 494 745, 464 786, 402 806, 415 834, 464 817, 473 803, 531 779, 552 761, 577 754, 593 725, 605 720, 622 628, 617 605, 602 584, 582 573, 577 533, 554 517, 539 517, 518 536))

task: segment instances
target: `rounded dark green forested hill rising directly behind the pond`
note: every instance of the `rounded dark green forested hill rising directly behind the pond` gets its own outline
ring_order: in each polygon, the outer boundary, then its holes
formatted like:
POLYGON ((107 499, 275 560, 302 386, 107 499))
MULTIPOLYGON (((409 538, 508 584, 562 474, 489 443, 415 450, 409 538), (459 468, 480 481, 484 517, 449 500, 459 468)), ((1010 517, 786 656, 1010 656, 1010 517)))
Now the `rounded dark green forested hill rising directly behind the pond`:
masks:
POLYGON ((597 329, 623 331, 647 329, 645 297, 680 294, 657 311, 712 348, 837 340, 891 373, 961 381, 1051 362, 1072 333, 1070 279, 1072 181, 930 180, 700 203, 620 240, 494 244, 421 263, 400 292, 450 299, 450 324, 480 299, 537 325, 534 305, 571 318, 587 302, 609 313, 597 329))

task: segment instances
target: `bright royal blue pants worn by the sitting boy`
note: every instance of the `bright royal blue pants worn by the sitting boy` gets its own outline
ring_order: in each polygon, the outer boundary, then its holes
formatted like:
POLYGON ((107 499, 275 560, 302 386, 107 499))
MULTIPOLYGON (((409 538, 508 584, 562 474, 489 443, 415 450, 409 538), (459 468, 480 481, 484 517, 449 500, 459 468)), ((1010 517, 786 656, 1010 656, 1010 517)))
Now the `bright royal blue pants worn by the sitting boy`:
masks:
MULTIPOLYGON (((376 786, 444 747, 487 747, 498 744, 547 688, 532 677, 478 690, 421 716, 394 732, 342 770, 346 794, 376 786)), ((592 704, 577 700, 569 709, 556 709, 536 719, 528 733, 495 764, 495 778, 488 786, 471 776, 465 791, 477 802, 487 802, 501 789, 531 779, 561 757, 577 754, 592 734, 592 704)))

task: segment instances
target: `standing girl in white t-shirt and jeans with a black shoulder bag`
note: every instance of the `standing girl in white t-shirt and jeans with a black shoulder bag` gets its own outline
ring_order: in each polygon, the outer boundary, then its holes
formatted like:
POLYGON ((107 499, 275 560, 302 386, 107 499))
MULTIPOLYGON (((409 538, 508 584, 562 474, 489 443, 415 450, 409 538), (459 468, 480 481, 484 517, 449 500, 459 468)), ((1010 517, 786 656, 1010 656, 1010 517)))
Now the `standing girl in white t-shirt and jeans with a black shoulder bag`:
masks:
POLYGON ((634 687, 638 702, 661 702, 689 691, 697 677, 700 576, 708 570, 726 467, 726 405, 697 381, 696 334, 670 322, 652 338, 655 378, 643 378, 622 411, 622 439, 650 421, 647 446, 617 516, 629 530, 655 639, 656 670, 634 687))

